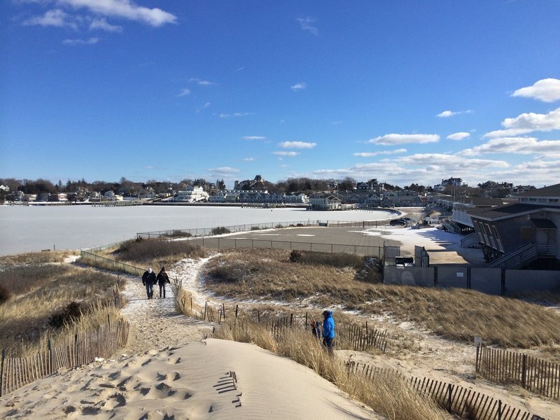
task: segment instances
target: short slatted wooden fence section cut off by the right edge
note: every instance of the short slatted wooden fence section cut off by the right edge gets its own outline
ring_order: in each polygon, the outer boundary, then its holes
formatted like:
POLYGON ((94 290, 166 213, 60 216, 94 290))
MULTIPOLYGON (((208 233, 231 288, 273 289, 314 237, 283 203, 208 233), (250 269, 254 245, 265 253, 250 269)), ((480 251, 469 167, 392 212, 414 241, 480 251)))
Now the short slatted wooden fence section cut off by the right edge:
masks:
POLYGON ((517 384, 560 400, 560 365, 515 351, 478 347, 476 372, 498 384, 517 384))

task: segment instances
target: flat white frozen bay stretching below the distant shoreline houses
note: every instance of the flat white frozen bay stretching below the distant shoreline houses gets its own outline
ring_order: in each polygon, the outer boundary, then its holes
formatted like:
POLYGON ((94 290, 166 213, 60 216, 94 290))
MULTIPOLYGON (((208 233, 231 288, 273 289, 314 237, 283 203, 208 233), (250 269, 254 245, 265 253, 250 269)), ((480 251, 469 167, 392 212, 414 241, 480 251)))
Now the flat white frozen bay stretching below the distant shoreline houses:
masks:
POLYGON ((0 255, 101 246, 138 232, 251 223, 378 221, 388 211, 307 211, 211 206, 0 206, 0 255))

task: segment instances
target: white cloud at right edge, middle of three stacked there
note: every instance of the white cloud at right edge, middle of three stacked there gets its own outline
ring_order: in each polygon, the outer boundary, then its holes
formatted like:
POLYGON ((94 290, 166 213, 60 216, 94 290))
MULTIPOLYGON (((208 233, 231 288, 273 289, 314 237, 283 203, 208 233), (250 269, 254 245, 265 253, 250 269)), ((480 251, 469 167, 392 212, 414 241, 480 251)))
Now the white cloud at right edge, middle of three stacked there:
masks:
POLYGON ((484 137, 511 137, 533 131, 560 130, 560 108, 547 114, 522 113, 515 118, 505 118, 502 125, 505 130, 489 132, 484 134, 484 137))

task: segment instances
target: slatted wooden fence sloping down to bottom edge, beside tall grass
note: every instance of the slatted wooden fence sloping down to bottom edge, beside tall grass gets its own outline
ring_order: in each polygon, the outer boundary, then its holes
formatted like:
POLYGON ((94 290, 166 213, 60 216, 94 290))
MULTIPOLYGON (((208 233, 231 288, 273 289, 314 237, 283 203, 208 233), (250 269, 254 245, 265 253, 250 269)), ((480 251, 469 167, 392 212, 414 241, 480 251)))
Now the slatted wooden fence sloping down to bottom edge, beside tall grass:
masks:
POLYGON ((403 382, 426 398, 459 419, 470 420, 545 420, 536 414, 511 407, 501 400, 492 398, 472 388, 449 384, 444 381, 420 377, 405 377, 402 372, 391 367, 373 367, 365 363, 350 361, 346 364, 349 372, 363 374, 371 381, 400 378, 403 382))

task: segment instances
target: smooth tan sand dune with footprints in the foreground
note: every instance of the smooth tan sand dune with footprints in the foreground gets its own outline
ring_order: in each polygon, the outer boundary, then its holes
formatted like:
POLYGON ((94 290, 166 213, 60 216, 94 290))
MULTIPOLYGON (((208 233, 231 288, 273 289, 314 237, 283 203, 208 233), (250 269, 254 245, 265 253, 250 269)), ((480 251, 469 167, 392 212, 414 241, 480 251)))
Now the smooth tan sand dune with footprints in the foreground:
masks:
POLYGON ((86 415, 131 420, 380 418, 307 367, 251 344, 218 339, 93 363, 0 400, 1 418, 86 415))

